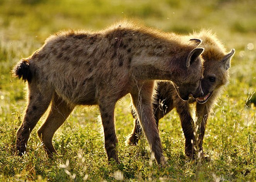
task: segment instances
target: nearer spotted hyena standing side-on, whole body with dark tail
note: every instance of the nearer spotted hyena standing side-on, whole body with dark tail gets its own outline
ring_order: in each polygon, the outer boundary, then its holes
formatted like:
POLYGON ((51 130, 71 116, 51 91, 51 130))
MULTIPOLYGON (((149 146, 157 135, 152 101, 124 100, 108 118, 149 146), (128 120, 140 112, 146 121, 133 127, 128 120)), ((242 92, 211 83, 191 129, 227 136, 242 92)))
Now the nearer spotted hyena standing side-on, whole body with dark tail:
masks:
POLYGON ((18 155, 24 154, 31 131, 47 108, 37 131, 44 149, 76 105, 98 105, 108 159, 119 162, 116 146, 115 103, 130 93, 142 129, 158 164, 164 164, 158 127, 153 117, 154 80, 172 80, 180 97, 202 97, 203 48, 160 30, 119 22, 99 32, 59 32, 14 67, 14 75, 28 81, 28 103, 17 131, 18 155), (184 89, 188 88, 188 89, 184 89), (184 91, 185 90, 185 91, 184 91), (51 103, 51 104, 50 104, 51 103))

